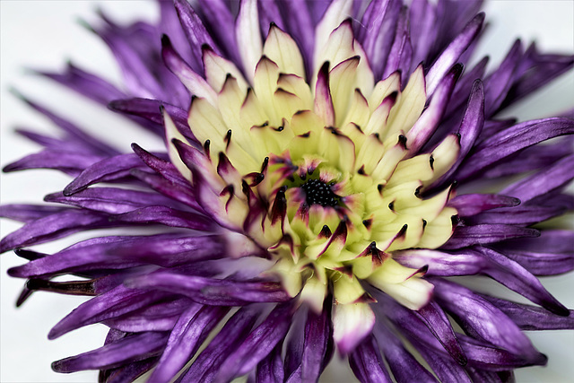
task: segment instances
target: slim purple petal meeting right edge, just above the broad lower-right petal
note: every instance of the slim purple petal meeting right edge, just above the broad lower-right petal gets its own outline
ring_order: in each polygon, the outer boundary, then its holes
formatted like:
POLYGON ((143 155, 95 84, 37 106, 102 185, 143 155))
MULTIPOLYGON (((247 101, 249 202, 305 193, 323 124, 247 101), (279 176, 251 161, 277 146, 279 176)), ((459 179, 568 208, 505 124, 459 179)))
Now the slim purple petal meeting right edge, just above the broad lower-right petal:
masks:
POLYGON ((500 309, 522 330, 571 330, 574 329, 574 310, 568 317, 552 314, 539 307, 501 300, 489 295, 481 295, 500 309))

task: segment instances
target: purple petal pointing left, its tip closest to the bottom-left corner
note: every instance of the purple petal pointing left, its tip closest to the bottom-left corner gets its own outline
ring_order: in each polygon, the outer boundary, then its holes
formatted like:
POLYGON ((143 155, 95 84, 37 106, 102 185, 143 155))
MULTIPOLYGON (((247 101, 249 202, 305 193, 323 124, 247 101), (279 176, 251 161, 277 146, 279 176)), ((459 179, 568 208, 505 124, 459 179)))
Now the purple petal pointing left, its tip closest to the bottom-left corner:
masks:
POLYGON ((142 333, 129 335, 88 353, 81 353, 52 363, 57 372, 100 370, 119 367, 129 362, 142 361, 161 353, 168 335, 166 333, 142 333))

